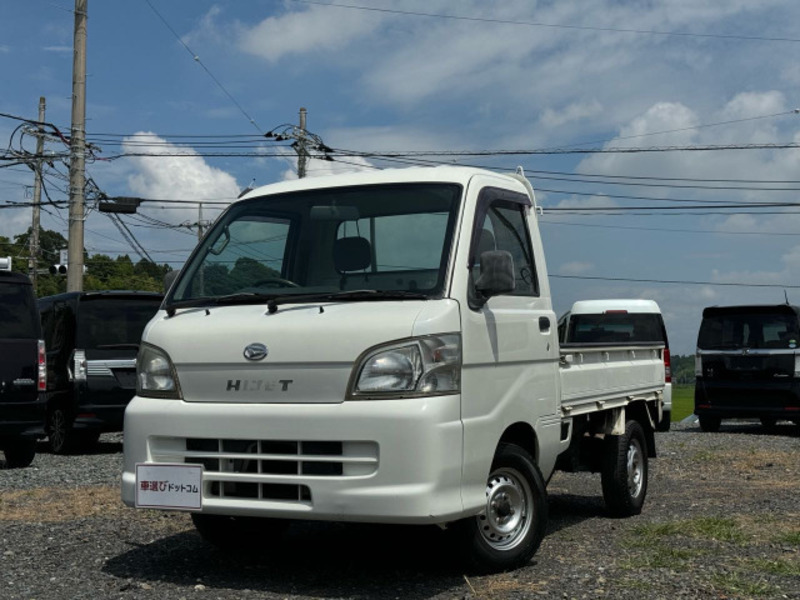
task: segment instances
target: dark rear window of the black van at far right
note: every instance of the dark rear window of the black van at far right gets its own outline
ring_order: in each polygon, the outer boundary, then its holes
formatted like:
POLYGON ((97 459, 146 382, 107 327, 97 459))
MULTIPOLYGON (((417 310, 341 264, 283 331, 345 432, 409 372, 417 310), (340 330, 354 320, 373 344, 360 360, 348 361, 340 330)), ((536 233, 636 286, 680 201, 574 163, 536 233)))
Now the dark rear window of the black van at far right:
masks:
POLYGON ((797 316, 786 311, 706 316, 697 339, 702 350, 797 348, 798 343, 797 316))

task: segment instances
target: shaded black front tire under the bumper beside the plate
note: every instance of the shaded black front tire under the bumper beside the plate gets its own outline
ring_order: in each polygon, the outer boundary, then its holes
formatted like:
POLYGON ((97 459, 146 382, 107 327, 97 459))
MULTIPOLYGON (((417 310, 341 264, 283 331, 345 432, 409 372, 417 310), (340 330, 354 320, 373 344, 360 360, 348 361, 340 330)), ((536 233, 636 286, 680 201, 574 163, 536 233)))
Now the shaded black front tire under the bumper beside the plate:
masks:
POLYGON ((234 517, 192 513, 192 523, 204 541, 234 553, 269 553, 280 547, 275 538, 289 527, 285 519, 234 517))

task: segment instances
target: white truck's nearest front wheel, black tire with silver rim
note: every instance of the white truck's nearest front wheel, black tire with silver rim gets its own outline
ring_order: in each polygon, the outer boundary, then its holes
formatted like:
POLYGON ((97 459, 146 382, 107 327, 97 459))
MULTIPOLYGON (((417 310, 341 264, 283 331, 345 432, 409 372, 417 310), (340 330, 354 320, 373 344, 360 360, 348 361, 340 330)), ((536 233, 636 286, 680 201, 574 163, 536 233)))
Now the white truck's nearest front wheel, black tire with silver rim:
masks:
POLYGON ((530 561, 547 528, 544 478, 530 454, 500 444, 486 483, 486 507, 454 526, 458 551, 475 572, 516 569, 530 561))

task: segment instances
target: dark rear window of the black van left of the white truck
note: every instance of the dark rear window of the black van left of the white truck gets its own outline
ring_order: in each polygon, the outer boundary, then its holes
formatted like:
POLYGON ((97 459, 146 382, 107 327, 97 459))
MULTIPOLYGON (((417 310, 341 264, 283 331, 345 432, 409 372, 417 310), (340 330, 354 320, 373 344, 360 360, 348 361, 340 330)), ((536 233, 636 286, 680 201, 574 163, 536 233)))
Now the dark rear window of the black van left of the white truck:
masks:
POLYGON ((90 358, 96 350, 125 350, 136 355, 145 325, 158 312, 161 298, 84 298, 80 303, 77 347, 90 358), (132 352, 131 352, 132 350, 132 352))

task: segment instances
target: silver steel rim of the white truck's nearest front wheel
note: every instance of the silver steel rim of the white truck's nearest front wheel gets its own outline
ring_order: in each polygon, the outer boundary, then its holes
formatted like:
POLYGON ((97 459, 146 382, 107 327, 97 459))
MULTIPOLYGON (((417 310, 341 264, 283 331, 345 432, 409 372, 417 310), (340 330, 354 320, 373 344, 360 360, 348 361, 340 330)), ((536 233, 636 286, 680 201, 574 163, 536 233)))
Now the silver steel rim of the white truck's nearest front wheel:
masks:
POLYGON ((486 483, 486 507, 476 517, 481 537, 497 550, 518 546, 531 528, 532 502, 531 487, 519 471, 494 471, 486 483))

